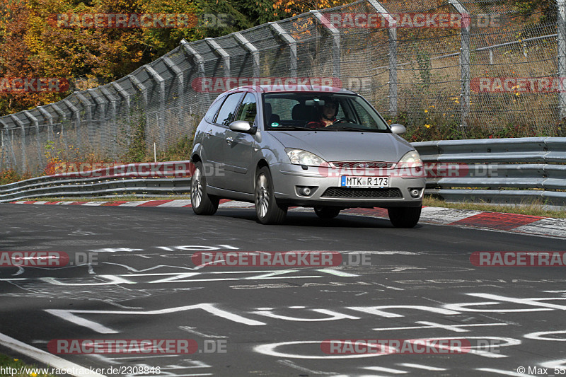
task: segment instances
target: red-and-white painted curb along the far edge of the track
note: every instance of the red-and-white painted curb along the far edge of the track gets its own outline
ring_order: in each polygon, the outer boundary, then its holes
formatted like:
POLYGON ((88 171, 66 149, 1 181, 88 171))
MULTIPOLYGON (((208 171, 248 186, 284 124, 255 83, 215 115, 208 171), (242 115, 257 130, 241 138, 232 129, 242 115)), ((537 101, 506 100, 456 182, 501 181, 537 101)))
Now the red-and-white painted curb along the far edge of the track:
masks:
MULTIPOLYGON (((138 202, 108 201, 108 202, 46 202, 37 200, 19 200, 13 204, 50 204, 50 205, 81 205, 98 207, 190 207, 189 199, 143 200, 138 202)), ((223 199, 219 208, 253 208, 246 202, 223 199)), ((291 208, 289 211, 310 211, 304 208, 291 208)), ((387 210, 382 208, 351 208, 342 214, 388 218, 387 210)), ((553 219, 542 216, 521 214, 504 214, 498 212, 471 211, 468 209, 451 209, 442 207, 423 207, 420 223, 441 224, 472 228, 492 229, 516 233, 535 234, 566 238, 566 219, 553 219)))

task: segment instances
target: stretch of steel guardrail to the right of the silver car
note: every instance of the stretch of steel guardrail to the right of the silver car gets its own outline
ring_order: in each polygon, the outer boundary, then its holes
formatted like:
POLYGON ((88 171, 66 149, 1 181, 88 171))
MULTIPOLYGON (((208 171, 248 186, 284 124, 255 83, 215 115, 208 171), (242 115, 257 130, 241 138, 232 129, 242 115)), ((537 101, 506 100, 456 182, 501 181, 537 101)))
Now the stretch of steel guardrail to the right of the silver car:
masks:
POLYGON ((429 164, 427 194, 450 202, 521 204, 534 199, 566 205, 566 138, 443 140, 412 146, 429 164))

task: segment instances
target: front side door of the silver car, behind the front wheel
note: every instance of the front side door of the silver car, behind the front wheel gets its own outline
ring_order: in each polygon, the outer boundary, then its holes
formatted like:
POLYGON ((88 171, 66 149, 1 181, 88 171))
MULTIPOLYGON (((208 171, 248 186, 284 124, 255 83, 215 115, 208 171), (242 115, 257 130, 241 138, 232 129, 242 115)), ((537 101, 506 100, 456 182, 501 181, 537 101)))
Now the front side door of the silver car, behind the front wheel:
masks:
MULTIPOLYGON (((245 120, 250 124, 256 121, 257 100, 252 92, 246 93, 236 112, 236 120, 245 120)), ((236 132, 228 129, 222 148, 224 149, 224 170, 226 180, 230 182, 229 190, 252 192, 253 178, 250 178, 250 164, 253 154, 255 135, 246 132, 236 132)))

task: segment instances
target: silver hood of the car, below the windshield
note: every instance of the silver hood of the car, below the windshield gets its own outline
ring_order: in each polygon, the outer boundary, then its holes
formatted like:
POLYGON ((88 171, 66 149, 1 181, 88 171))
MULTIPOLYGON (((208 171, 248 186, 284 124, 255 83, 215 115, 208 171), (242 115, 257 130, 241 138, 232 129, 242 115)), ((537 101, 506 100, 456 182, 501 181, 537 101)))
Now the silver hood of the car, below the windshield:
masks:
POLYGON ((285 148, 304 149, 326 161, 397 162, 414 148, 396 134, 381 132, 270 132, 285 148))

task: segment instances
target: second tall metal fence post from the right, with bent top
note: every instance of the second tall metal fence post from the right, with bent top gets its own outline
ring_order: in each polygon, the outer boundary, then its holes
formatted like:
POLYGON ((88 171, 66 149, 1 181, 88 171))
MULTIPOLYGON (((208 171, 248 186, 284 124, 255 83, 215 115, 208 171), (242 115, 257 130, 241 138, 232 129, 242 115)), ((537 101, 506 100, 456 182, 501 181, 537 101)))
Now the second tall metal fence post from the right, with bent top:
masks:
POLYGON ((470 112, 470 13, 458 0, 449 0, 461 16, 461 49, 460 49, 460 71, 461 71, 461 126, 468 125, 468 114, 470 112))

